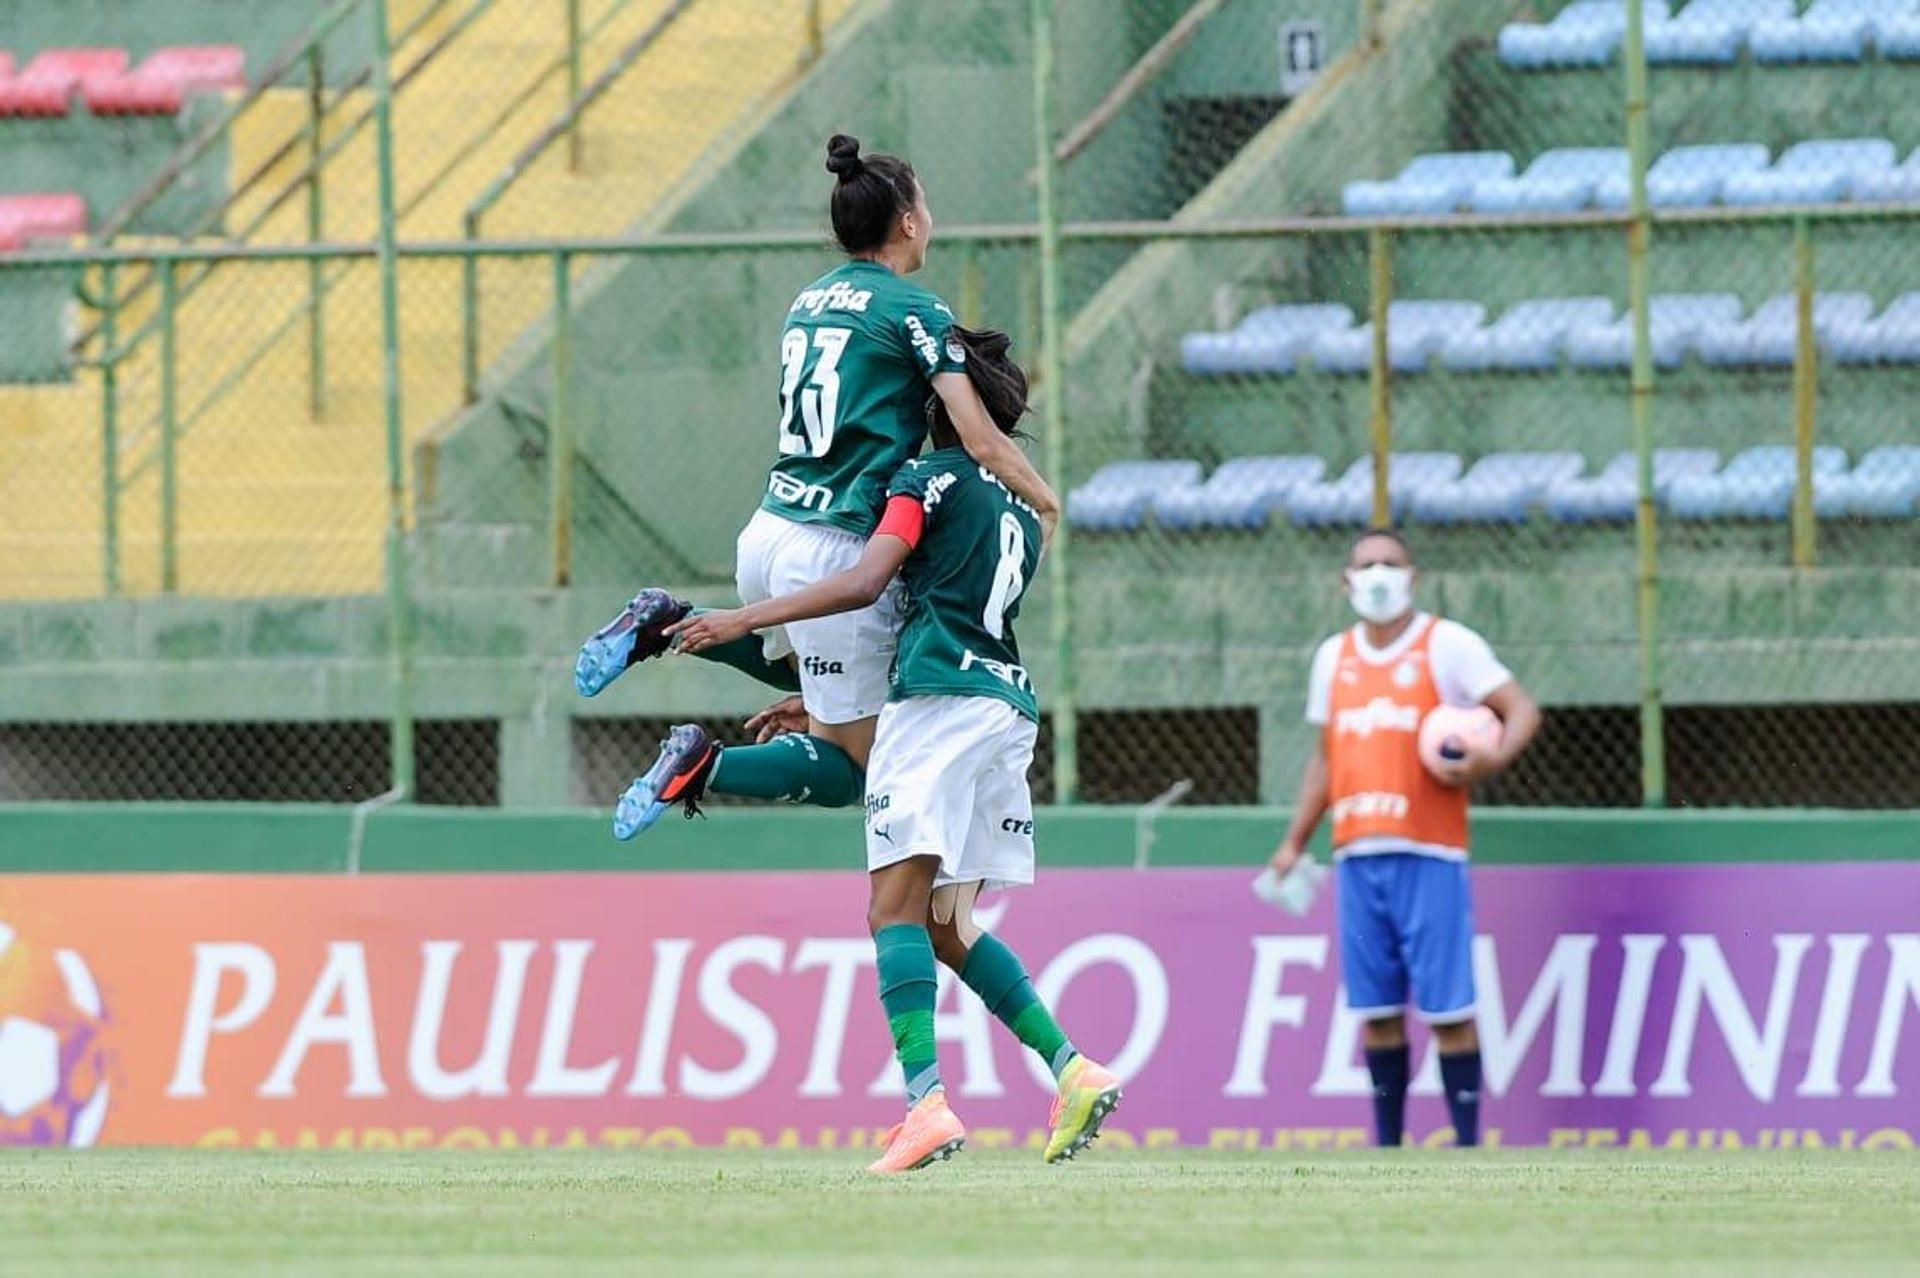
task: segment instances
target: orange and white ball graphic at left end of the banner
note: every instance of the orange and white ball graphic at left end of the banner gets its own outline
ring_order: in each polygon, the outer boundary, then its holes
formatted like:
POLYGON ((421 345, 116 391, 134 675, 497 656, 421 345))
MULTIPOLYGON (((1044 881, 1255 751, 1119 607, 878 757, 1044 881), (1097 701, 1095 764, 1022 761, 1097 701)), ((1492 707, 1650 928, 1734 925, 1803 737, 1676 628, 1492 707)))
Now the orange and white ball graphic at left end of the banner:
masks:
POLYGON ((106 1002, 75 950, 0 921, 0 1146, 90 1146, 108 1119, 106 1002))

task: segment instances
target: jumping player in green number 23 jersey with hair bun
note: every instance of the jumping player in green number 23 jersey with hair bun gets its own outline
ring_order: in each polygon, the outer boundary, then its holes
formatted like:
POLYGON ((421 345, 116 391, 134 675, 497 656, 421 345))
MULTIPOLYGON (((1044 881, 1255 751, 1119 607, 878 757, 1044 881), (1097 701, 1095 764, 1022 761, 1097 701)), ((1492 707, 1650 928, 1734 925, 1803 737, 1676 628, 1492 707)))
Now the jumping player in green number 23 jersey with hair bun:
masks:
MULTIPOLYGON (((833 234, 849 261, 801 290, 787 311, 780 459, 737 547, 745 603, 801 589, 860 558, 887 480, 925 443, 929 391, 960 447, 1046 528, 1060 510, 1054 491, 981 407, 966 376, 966 347, 952 336, 952 311, 906 280, 933 240, 933 215, 912 167, 893 155, 862 155, 856 138, 835 134, 828 171, 837 178, 833 234)), ((887 698, 899 608, 899 593, 885 589, 858 610, 703 651, 764 683, 799 689, 808 731, 722 756, 701 727, 672 729, 659 760, 620 798, 614 835, 632 839, 703 789, 822 808, 858 802, 887 698)), ((666 627, 691 610, 662 589, 641 591, 582 647, 574 685, 593 697, 634 662, 666 652, 666 627)))

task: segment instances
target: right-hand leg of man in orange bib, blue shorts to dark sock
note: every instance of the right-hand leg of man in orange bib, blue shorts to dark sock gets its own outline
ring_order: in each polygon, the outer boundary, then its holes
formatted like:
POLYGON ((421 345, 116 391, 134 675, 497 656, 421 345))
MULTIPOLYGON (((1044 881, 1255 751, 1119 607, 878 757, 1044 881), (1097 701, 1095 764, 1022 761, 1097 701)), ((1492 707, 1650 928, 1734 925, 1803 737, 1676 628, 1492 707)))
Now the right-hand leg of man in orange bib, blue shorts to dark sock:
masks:
POLYGON ((1413 1006, 1440 1048, 1440 1088, 1457 1146, 1480 1144, 1480 1034, 1475 1029, 1473 890, 1463 862, 1407 858, 1400 913, 1413 1006))

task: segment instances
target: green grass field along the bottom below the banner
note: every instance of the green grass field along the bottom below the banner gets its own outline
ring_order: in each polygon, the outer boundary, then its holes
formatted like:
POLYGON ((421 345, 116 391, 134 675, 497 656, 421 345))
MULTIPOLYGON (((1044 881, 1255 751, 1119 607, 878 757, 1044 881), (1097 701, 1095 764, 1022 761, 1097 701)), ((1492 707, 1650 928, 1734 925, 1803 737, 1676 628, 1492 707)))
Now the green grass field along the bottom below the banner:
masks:
POLYGON ((0 1153, 0 1274, 1920 1274, 1901 1153, 0 1153))

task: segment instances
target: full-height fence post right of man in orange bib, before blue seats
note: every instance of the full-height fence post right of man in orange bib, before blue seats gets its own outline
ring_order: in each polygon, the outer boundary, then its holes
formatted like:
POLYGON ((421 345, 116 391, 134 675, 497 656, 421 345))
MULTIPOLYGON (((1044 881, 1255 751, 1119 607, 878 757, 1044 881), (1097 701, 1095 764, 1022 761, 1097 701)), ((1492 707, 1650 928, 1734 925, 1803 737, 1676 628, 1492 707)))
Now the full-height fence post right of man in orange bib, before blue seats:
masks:
POLYGON ((1626 4, 1626 152, 1632 221, 1626 228, 1626 305, 1634 317, 1632 428, 1638 457, 1634 539, 1638 549, 1640 620, 1640 802, 1667 806, 1667 723, 1661 706, 1661 564, 1659 509, 1653 491, 1653 326, 1647 319, 1647 255, 1653 209, 1647 203, 1647 52, 1645 4, 1626 4))

